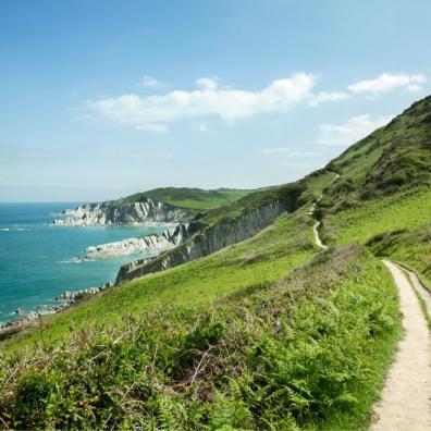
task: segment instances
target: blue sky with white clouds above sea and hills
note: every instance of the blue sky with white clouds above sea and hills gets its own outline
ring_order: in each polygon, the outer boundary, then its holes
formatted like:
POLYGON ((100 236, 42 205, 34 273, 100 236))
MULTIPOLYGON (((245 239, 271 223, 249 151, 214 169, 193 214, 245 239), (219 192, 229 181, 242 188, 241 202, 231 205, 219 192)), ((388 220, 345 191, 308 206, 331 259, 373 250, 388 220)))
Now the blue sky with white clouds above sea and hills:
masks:
POLYGON ((295 181, 431 93, 431 2, 2 0, 0 201, 295 181))

